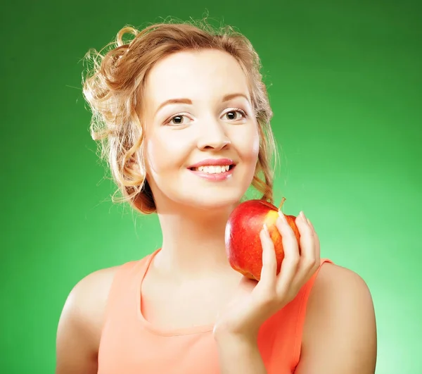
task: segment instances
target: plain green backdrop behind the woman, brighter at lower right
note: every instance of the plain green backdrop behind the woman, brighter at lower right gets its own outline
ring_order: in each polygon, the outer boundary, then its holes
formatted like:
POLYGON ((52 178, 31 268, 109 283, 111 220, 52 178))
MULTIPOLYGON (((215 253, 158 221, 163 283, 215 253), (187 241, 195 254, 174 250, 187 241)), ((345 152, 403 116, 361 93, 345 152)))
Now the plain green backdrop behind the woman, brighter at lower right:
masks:
POLYGON ((262 58, 281 151, 276 204, 373 294, 377 374, 422 373, 421 11, 417 1, 8 1, 1 11, 1 373, 53 373, 58 318, 92 271, 160 246, 110 202, 82 57, 126 24, 234 25, 262 58), (213 21, 214 20, 214 21, 213 21))

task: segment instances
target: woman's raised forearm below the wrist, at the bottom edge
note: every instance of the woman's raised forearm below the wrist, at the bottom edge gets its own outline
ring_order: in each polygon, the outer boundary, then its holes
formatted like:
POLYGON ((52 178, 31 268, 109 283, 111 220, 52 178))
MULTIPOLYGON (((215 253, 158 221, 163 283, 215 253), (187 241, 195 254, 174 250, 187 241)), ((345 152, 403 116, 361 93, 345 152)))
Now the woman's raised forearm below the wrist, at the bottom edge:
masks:
POLYGON ((267 374, 256 340, 216 339, 221 374, 267 374))

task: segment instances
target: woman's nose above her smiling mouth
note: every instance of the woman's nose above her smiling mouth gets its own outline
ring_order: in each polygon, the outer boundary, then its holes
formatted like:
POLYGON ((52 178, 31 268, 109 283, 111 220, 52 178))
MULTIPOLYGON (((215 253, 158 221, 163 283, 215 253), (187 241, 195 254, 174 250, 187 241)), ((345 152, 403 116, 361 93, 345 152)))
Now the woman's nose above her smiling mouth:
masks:
POLYGON ((198 149, 219 151, 230 147, 231 141, 226 134, 224 125, 217 120, 207 120, 200 127, 198 134, 198 149))

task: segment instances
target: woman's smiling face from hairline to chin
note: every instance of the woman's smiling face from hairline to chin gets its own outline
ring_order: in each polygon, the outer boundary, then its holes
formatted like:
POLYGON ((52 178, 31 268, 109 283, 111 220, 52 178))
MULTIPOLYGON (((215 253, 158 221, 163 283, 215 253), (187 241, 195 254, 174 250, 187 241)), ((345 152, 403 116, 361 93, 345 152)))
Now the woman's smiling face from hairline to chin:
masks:
POLYGON ((217 50, 172 54, 150 71, 143 97, 146 173, 158 212, 166 204, 238 204, 260 139, 237 61, 217 50))

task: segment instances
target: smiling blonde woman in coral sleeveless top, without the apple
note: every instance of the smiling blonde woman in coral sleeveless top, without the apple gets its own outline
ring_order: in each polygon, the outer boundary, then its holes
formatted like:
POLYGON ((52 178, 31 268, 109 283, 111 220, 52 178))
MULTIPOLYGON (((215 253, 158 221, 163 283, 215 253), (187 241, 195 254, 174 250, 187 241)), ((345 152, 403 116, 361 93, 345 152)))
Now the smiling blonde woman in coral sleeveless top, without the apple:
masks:
POLYGON ((272 201, 272 113, 248 39, 193 24, 125 27, 97 56, 84 81, 93 137, 123 199, 156 212, 163 239, 139 261, 75 285, 56 373, 374 373, 369 289, 321 260, 303 213, 299 252, 279 212, 278 275, 267 227, 259 282, 227 261, 226 221, 248 187, 272 201), (135 37, 124 43, 127 32, 135 37))

